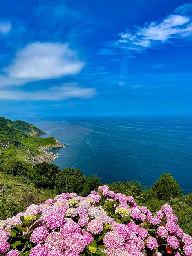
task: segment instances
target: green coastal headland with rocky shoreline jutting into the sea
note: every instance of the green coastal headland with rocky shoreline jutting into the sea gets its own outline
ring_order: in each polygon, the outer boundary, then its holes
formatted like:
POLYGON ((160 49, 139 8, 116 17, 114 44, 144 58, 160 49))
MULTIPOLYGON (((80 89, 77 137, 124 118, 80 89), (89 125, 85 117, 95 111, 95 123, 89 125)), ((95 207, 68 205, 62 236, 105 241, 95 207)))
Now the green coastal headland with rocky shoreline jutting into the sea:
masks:
POLYGON ((54 137, 42 138, 35 136, 42 134, 45 134, 45 132, 32 124, 0 117, 0 157, 11 151, 11 153, 15 152, 19 159, 33 163, 51 161, 54 155, 45 153, 45 150, 52 147, 61 147, 62 144, 56 141, 54 137))

